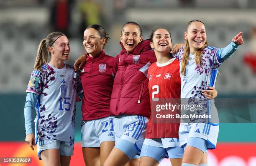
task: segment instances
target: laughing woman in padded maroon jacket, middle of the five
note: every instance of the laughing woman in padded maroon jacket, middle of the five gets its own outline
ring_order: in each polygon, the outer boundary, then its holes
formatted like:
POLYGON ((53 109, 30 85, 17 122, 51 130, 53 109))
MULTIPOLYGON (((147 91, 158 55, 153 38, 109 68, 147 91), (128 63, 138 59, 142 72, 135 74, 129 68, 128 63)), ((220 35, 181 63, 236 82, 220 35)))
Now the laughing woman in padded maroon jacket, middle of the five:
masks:
POLYGON ((150 41, 143 41, 136 22, 123 25, 120 40, 122 50, 116 56, 118 72, 110 101, 116 144, 104 166, 121 166, 132 159, 131 165, 138 164, 135 155, 141 151, 151 114, 147 72, 156 56, 150 41))

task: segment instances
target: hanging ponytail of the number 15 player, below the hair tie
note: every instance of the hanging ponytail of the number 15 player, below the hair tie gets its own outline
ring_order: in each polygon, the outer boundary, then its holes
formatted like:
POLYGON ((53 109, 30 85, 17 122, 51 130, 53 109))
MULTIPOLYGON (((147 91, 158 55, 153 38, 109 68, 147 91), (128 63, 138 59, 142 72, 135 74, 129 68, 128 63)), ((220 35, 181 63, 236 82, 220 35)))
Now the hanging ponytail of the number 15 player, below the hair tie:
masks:
POLYGON ((47 62, 48 51, 46 48, 46 39, 43 39, 38 46, 34 69, 41 71, 41 67, 43 66, 43 64, 46 64, 47 62))

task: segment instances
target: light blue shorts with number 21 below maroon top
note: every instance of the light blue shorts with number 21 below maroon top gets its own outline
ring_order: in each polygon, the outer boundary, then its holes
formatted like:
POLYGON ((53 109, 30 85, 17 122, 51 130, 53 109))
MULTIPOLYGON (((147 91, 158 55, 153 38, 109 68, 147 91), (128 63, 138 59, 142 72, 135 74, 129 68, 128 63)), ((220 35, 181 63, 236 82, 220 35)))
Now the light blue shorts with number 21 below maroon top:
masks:
POLYGON ((114 116, 82 121, 82 147, 100 147, 104 141, 115 141, 114 116))

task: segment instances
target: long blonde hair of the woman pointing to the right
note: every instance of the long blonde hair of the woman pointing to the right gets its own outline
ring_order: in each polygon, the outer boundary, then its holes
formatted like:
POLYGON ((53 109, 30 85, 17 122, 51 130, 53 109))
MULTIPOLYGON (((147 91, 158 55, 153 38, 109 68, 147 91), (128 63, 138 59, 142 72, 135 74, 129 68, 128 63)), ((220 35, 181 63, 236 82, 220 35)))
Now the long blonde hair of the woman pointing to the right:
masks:
MULTIPOLYGON (((190 24, 192 23, 192 22, 201 22, 203 25, 205 25, 202 21, 200 21, 200 20, 192 20, 192 21, 189 21, 188 23, 187 23, 187 29, 188 29, 188 27, 190 26, 190 24)), ((187 30, 186 30, 187 31, 187 30)), ((207 43, 207 41, 205 42, 205 45, 202 47, 202 48, 200 48, 199 50, 197 50, 196 51, 196 53, 195 53, 195 62, 196 62, 196 64, 198 65, 198 66, 201 66, 201 55, 202 55, 202 50, 204 50, 205 49, 205 47, 207 47, 208 46, 208 43, 207 43)), ((181 73, 183 74, 183 75, 185 75, 186 74, 186 67, 187 67, 187 62, 188 62, 188 60, 189 60, 189 53, 190 53, 190 48, 189 48, 189 43, 188 43, 188 40, 185 40, 185 48, 184 48, 184 54, 183 54, 183 56, 182 56, 182 69, 181 69, 181 73)))

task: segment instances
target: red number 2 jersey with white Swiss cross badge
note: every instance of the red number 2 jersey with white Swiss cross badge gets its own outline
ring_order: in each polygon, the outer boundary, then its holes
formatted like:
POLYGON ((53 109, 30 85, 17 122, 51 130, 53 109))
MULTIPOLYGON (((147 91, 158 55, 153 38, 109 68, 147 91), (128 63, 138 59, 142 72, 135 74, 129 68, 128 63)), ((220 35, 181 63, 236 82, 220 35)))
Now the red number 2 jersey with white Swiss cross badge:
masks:
MULTIPOLYGON (((148 69, 148 77, 151 116, 148 122, 146 138, 179 138, 179 119, 156 118, 159 117, 156 114, 165 115, 163 111, 156 111, 157 104, 169 104, 172 99, 179 100, 180 98, 179 61, 172 58, 164 64, 154 62, 148 69)), ((172 114, 172 111, 167 110, 166 114, 169 113, 172 114)))

